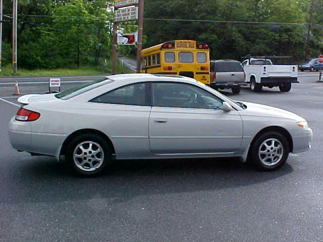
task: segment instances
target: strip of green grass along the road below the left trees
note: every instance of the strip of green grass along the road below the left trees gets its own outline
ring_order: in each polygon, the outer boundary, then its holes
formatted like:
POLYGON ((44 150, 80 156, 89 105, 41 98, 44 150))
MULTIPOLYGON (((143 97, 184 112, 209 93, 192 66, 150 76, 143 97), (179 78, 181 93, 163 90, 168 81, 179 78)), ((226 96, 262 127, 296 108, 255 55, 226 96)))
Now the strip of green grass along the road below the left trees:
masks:
MULTIPOLYGON (((131 71, 126 67, 121 66, 119 62, 117 62, 117 73, 130 73, 131 71)), ((19 69, 16 74, 12 73, 12 66, 8 65, 2 68, 2 72, 0 76, 59 76, 59 75, 99 75, 99 74, 111 74, 111 67, 93 67, 93 66, 82 66, 79 69, 35 69, 35 70, 26 70, 19 69)))

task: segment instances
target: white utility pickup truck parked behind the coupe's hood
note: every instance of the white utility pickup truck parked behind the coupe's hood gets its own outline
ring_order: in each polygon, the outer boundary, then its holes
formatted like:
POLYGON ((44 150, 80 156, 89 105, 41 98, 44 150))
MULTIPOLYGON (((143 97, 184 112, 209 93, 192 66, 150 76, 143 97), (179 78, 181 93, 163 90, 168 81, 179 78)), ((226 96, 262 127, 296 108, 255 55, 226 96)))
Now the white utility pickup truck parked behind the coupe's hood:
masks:
POLYGON ((292 83, 297 81, 297 66, 273 65, 270 59, 248 58, 242 62, 246 81, 253 92, 260 92, 262 87, 279 87, 281 92, 289 92, 292 83))

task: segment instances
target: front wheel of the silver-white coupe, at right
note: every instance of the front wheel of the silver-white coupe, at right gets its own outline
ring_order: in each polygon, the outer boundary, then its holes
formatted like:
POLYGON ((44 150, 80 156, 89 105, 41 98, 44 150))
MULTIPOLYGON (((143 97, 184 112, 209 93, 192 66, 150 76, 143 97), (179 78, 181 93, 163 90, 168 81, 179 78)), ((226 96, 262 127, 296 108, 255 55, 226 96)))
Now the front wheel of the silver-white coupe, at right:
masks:
POLYGON ((260 169, 263 171, 271 171, 271 170, 277 170, 280 167, 282 167, 285 164, 288 158, 288 155, 289 155, 289 145, 288 145, 287 139, 278 132, 267 132, 260 135, 253 142, 252 146, 250 147, 248 158, 257 169, 260 169), (275 150, 275 148, 273 149, 266 148, 266 146, 263 145, 263 143, 266 140, 268 140, 266 143, 267 145, 271 144, 271 142, 274 140, 274 146, 277 146, 277 147, 280 142, 280 145, 282 146, 283 149, 279 151, 279 150, 275 150), (263 151, 263 148, 265 148, 264 151, 263 151), (273 158, 271 158, 271 155, 275 155, 275 153, 272 154, 268 152, 268 150, 266 149, 268 149, 270 152, 274 152, 274 151, 278 153, 280 152, 282 156, 281 157, 274 156, 273 158), (265 153, 260 154, 260 150, 261 152, 265 152, 265 153), (262 160, 270 159, 272 162, 268 162, 268 163, 272 163, 272 164, 267 164, 267 161, 261 161, 260 157, 262 158, 262 160))

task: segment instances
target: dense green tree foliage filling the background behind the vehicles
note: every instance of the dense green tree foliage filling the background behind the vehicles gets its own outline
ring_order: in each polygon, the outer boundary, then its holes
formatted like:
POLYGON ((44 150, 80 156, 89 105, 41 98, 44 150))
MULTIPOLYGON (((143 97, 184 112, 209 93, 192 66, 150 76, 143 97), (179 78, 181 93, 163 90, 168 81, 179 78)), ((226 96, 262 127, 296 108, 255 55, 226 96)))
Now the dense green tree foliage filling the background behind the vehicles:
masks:
MULTIPOLYGON (((112 16, 103 0, 19 0, 18 66, 27 69, 75 68, 99 65, 111 58, 112 16), (35 16, 35 15, 38 15, 35 16), (39 16, 41 15, 41 16, 39 16), (77 17, 75 17, 77 16, 77 17)), ((145 18, 237 21, 144 21, 144 47, 174 39, 207 43, 212 58, 240 59, 252 55, 304 57, 310 0, 145 0, 145 18), (251 24, 246 22, 271 22, 251 24), (275 23, 300 23, 280 25, 275 23)), ((311 57, 323 52, 323 0, 315 0, 310 38, 311 57)), ((12 14, 12 0, 4 1, 12 14)), ((4 16, 4 20, 10 18, 4 16)), ((119 24, 134 32, 136 22, 119 24)), ((11 63, 12 23, 3 25, 3 65, 11 63)), ((135 56, 135 46, 118 52, 135 56)))

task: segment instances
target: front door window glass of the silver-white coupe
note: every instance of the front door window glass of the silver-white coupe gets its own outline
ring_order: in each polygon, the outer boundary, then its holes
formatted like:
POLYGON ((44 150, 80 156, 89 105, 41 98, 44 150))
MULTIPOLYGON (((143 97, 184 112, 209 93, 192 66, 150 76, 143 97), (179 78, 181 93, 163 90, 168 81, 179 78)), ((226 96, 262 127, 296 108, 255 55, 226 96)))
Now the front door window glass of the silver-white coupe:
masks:
POLYGON ((223 101, 190 84, 152 83, 153 106, 178 108, 222 109, 223 101))

